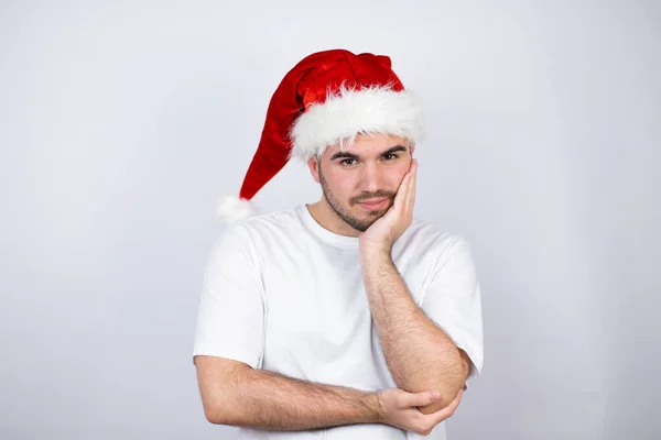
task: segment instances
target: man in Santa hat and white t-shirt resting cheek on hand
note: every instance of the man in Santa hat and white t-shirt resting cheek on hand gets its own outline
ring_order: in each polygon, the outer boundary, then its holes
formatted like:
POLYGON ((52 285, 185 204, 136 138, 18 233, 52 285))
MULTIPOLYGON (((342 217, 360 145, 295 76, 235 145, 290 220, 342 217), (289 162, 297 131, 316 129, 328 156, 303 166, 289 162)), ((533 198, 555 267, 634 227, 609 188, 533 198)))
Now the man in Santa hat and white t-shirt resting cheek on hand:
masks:
POLYGON ((275 90, 207 265, 194 360, 238 439, 445 439, 483 365, 469 244, 414 220, 422 112, 372 54, 326 51, 275 90), (257 215, 292 157, 323 197, 257 215))

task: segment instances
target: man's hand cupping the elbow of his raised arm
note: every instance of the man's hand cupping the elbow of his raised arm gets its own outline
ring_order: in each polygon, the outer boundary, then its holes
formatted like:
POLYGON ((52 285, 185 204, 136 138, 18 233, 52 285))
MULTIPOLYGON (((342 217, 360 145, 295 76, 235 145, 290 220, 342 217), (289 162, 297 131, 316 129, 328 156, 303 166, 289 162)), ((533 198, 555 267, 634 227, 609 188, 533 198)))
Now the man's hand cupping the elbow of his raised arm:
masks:
POLYGON ((452 403, 432 414, 422 414, 418 408, 427 406, 440 398, 437 392, 407 393, 399 388, 389 388, 379 393, 381 407, 381 424, 390 425, 420 436, 429 436, 432 429, 449 418, 459 402, 464 391, 460 389, 452 403), (434 393, 436 395, 434 396, 434 393))

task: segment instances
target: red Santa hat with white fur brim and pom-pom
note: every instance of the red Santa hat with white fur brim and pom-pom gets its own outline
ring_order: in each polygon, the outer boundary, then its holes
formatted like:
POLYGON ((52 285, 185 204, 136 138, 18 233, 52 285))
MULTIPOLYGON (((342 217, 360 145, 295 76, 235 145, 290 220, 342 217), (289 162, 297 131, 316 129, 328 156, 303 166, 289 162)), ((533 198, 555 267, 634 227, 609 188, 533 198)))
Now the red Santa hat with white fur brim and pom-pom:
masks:
POLYGON ((390 57, 345 50, 314 53, 273 94, 257 152, 238 197, 220 200, 217 218, 257 213, 252 197, 294 157, 306 161, 357 134, 382 133, 412 143, 423 130, 421 106, 391 69, 390 57))

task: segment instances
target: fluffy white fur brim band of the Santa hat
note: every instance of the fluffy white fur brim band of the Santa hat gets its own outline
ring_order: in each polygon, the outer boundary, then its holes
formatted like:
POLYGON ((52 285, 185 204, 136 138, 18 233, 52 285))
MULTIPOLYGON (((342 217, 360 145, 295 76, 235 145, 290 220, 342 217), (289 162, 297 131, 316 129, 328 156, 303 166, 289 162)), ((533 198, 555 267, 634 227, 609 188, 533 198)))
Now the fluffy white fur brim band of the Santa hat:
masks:
POLYGON ((291 155, 305 161, 329 145, 347 140, 350 144, 361 133, 391 134, 415 143, 423 129, 423 111, 411 91, 383 86, 358 90, 343 87, 324 103, 312 105, 294 122, 291 155))

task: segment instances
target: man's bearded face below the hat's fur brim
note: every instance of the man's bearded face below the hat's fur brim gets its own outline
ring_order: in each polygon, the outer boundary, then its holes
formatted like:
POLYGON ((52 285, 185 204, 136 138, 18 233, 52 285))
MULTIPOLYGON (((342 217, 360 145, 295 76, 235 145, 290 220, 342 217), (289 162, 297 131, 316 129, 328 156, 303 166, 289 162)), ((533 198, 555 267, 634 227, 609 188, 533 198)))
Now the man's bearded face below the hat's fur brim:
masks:
POLYGON ((362 232, 392 206, 411 167, 413 147, 399 136, 359 135, 346 150, 328 147, 308 166, 335 213, 362 232))

